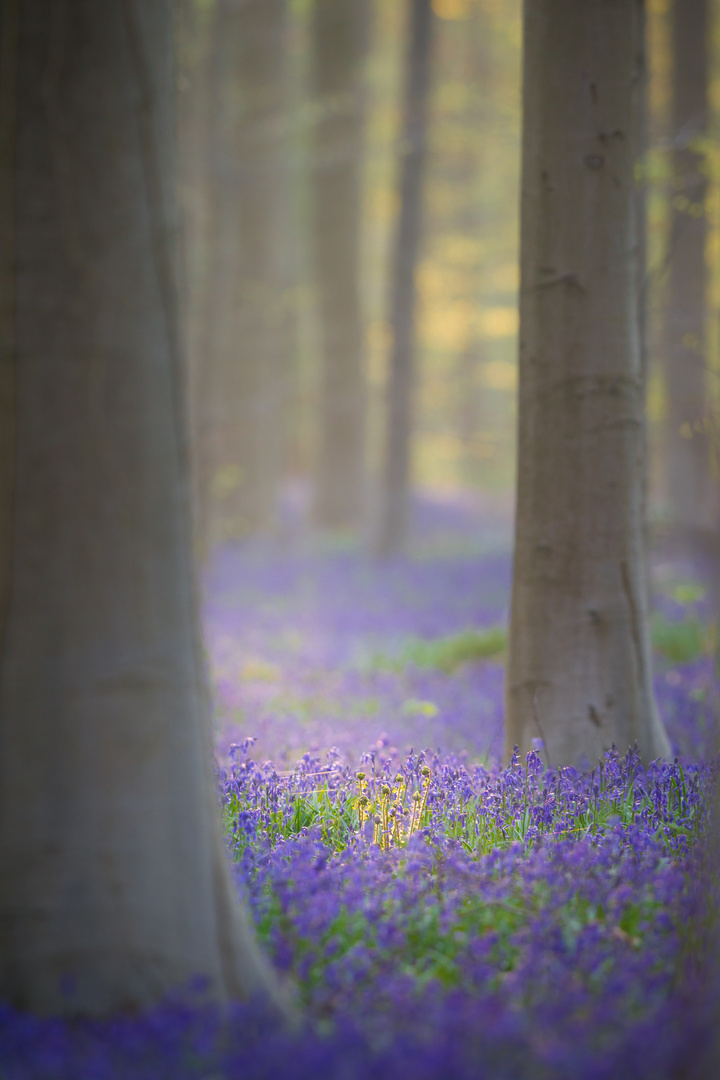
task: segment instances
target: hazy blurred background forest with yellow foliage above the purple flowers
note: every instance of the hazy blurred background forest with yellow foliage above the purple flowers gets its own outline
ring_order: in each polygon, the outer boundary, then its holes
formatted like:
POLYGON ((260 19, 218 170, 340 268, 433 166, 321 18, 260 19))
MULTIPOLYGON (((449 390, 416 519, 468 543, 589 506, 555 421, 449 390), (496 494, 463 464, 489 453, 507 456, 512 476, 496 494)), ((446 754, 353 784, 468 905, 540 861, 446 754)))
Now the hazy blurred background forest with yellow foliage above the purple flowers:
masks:
MULTIPOLYGON (((471 502, 510 540, 520 0, 433 0, 424 59, 406 0, 181 12, 199 551, 299 522, 372 544, 405 483, 402 462, 394 489, 383 478, 403 454, 404 393, 411 488, 471 502), (396 238, 413 168, 408 269, 396 238)), ((707 545, 720 523, 718 0, 648 0, 646 102, 650 518, 707 545)))

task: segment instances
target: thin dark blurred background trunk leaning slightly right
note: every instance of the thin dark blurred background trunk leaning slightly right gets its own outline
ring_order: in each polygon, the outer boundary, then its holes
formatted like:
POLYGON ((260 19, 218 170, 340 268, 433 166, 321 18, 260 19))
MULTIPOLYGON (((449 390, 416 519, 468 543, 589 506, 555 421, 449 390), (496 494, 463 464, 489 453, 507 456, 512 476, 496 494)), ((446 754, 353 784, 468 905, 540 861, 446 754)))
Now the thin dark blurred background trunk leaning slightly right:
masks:
POLYGON ((415 268, 422 228, 432 24, 430 0, 411 0, 405 120, 400 141, 400 213, 393 257, 393 350, 378 537, 381 555, 402 551, 408 530, 415 368, 415 268))

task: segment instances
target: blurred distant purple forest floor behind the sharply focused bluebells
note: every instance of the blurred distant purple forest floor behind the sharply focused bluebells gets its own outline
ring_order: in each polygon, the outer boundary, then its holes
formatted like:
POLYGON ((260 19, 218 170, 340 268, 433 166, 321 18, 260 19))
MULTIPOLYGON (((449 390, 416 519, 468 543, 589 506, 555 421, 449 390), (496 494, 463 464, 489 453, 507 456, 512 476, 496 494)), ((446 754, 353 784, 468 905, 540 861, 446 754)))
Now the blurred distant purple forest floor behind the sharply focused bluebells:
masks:
MULTIPOLYGON (((252 735, 253 757, 288 768, 335 747, 504 754, 503 660, 510 523, 489 508, 420 502, 407 557, 355 544, 246 544, 205 578, 217 747, 252 735)), ((715 633, 697 570, 654 559, 655 692, 675 753, 710 750, 715 633)))

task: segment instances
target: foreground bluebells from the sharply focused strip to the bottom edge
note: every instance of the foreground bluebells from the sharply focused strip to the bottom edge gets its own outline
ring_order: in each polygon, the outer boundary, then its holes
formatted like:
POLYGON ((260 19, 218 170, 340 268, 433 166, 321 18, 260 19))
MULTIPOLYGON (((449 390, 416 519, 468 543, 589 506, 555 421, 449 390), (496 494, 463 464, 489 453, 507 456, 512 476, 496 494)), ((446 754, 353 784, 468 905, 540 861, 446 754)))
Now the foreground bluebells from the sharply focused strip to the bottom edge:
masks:
MULTIPOLYGON (((248 743, 219 772, 221 802, 304 1026, 253 1005, 222 1017, 200 991, 112 1022, 4 1011, 3 1080, 704 1075, 709 767, 610 753, 592 773, 545 771, 533 753, 488 773, 409 755, 398 772, 427 788, 425 815, 383 845, 337 755, 281 775, 248 743)), ((395 765, 376 748, 358 771, 382 797, 395 765)))

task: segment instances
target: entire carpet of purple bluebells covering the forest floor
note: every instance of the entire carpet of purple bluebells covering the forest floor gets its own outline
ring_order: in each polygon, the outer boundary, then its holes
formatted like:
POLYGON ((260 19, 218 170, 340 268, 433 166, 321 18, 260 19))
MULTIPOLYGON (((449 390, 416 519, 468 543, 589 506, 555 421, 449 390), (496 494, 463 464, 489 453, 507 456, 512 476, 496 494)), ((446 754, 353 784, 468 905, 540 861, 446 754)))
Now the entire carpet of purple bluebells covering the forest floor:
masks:
POLYGON ((237 887, 302 1026, 200 987, 144 1017, 5 1010, 2 1080, 711 1075, 702 590, 655 568, 674 762, 502 768, 510 561, 430 525, 411 558, 248 548, 207 577, 237 887))

